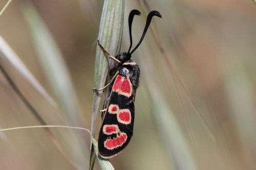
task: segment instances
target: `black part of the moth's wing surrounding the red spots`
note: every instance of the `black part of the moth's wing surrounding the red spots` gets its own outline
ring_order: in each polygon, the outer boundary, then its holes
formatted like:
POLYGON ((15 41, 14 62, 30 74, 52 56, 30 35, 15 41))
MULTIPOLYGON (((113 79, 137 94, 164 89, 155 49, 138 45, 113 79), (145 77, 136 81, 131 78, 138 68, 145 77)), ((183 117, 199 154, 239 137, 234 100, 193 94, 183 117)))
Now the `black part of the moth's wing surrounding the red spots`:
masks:
MULTIPOLYGON (((130 60, 129 62, 133 62, 133 61, 130 60)), ((99 139, 98 139, 99 153, 104 158, 110 158, 110 157, 114 156, 115 154, 119 153, 120 151, 122 151, 126 147, 126 145, 130 142, 131 137, 133 135, 133 126, 134 126, 134 117, 135 117, 134 100, 135 100, 136 89, 139 85, 140 70, 139 70, 139 66, 137 64, 122 65, 122 67, 119 68, 119 70, 121 70, 124 67, 129 69, 129 71, 130 71, 129 77, 130 77, 130 81, 132 83, 133 93, 130 96, 130 98, 127 98, 124 95, 120 95, 117 92, 114 92, 112 90, 113 84, 111 85, 110 98, 109 98, 108 102, 105 103, 105 104, 107 104, 106 105, 107 107, 104 106, 104 108, 106 107, 106 112, 103 116, 102 125, 101 125, 100 133, 99 133, 99 139), (117 115, 110 114, 108 112, 109 106, 111 104, 118 105, 119 109, 129 109, 131 112, 131 118, 132 118, 131 124, 125 125, 125 124, 119 123, 117 120, 117 115), (104 141, 106 139, 113 139, 113 138, 117 137, 117 134, 111 134, 111 135, 104 134, 102 131, 104 125, 118 125, 120 132, 126 133, 127 139, 126 139, 125 143, 123 143, 123 145, 121 145, 121 147, 115 148, 113 150, 109 150, 104 147, 104 141)), ((116 70, 117 69, 115 69, 115 71, 116 70)), ((115 71, 114 70, 111 71, 112 72, 111 76, 115 74, 115 71)), ((122 76, 122 75, 120 75, 120 76, 122 76)))

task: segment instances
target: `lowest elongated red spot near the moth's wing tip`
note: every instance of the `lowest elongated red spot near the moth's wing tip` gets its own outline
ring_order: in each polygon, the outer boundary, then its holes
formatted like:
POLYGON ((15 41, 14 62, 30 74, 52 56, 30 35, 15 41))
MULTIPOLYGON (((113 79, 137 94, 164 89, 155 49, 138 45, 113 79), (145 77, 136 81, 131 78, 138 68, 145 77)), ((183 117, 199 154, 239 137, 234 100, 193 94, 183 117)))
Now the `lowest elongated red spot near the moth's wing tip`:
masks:
POLYGON ((121 147, 123 143, 126 141, 127 135, 125 133, 121 133, 120 136, 114 137, 113 139, 106 139, 104 142, 105 148, 113 150, 117 147, 121 147))

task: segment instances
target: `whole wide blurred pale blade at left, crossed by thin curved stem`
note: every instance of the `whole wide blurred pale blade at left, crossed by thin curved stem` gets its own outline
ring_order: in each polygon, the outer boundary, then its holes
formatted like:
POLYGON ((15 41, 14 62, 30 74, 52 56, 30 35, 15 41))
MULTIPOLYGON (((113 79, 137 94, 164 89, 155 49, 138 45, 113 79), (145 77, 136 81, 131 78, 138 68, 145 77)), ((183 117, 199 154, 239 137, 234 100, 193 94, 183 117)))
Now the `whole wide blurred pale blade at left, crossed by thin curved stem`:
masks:
MULTIPOLYGON (((36 56, 58 98, 62 110, 61 114, 67 118, 65 122, 79 126, 82 124, 80 107, 69 70, 58 45, 34 6, 30 3, 25 3, 22 7, 22 12, 31 31, 36 56)), ((79 164, 82 168, 87 167, 90 152, 81 134, 79 132, 67 131, 65 134, 59 134, 58 137, 61 138, 60 142, 63 148, 74 159, 76 164, 79 164)))

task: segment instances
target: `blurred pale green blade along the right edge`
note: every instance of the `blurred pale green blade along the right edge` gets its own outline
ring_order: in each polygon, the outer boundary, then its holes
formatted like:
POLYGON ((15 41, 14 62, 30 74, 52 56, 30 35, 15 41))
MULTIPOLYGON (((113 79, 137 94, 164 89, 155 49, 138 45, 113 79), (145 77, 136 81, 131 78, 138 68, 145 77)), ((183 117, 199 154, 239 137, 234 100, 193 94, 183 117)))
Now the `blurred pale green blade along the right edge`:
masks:
POLYGON ((241 148, 248 169, 253 169, 256 137, 255 103, 253 102, 253 85, 246 74, 243 62, 233 70, 225 80, 225 88, 229 97, 229 107, 234 115, 235 129, 238 130, 241 148))

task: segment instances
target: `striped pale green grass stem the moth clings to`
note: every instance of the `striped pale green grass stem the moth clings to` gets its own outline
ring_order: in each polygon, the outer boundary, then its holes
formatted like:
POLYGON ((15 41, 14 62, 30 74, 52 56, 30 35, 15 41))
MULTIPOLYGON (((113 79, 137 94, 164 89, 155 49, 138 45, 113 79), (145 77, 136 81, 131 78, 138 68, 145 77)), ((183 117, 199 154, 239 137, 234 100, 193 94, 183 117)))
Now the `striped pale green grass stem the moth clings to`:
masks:
MULTIPOLYGON (((98 39, 105 49, 113 56, 120 52, 122 31, 123 31, 123 13, 124 0, 104 1, 99 36, 98 39)), ((109 60, 109 67, 113 66, 113 61, 109 60)), ((108 60, 101 48, 97 45, 95 70, 94 70, 94 87, 101 88, 104 86, 108 76, 108 60)), ((93 92, 93 114, 91 125, 91 144, 95 132, 95 122, 98 114, 102 91, 93 92)))

